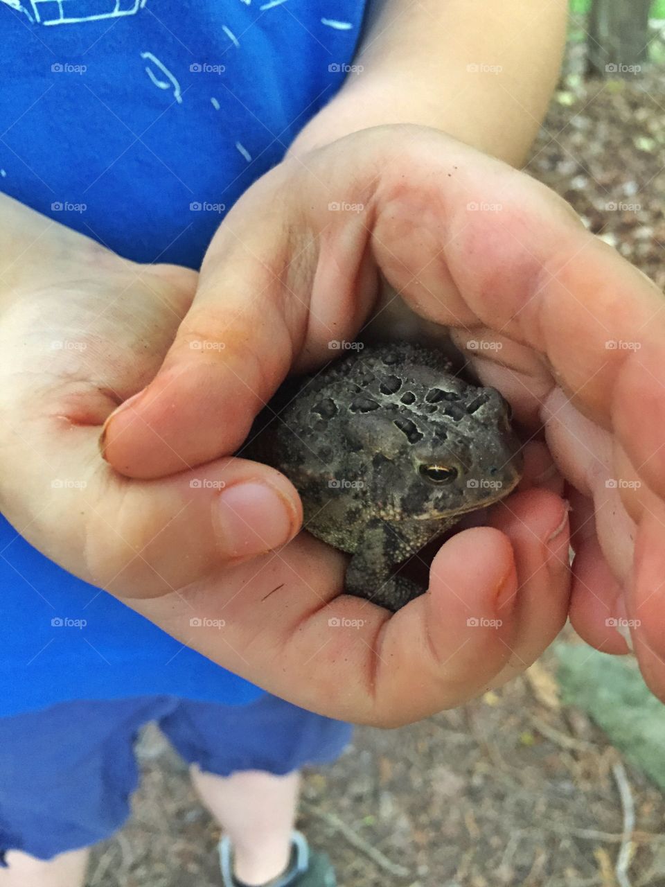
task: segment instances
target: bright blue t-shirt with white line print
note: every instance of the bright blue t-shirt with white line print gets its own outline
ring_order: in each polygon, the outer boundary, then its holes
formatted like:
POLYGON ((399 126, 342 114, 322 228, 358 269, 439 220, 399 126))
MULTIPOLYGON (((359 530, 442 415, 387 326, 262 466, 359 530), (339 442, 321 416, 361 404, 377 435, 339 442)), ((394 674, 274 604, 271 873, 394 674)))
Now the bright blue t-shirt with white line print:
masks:
MULTIPOLYGON (((0 189, 140 262, 198 268, 340 88, 364 0, 0 0, 0 189)), ((30 261, 39 261, 30 254, 30 261)), ((259 695, 0 518, 0 715, 259 695)))

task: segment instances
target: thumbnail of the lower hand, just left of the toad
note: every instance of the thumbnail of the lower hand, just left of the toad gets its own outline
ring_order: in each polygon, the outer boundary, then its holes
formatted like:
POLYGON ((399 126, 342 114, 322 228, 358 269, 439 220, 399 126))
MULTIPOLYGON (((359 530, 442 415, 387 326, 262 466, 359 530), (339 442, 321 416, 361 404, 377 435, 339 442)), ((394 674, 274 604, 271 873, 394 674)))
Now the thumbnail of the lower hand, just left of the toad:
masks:
POLYGON ((215 502, 223 549, 231 557, 254 557, 284 545, 298 529, 290 499, 260 481, 224 489, 215 502))

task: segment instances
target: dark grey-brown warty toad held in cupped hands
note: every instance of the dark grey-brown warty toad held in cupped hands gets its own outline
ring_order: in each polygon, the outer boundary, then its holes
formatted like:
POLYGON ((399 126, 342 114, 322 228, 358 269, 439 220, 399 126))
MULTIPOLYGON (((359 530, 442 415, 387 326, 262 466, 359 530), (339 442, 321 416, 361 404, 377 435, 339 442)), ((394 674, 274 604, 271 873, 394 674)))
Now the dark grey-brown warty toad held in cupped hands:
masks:
POLYGON ((345 591, 397 610, 425 589, 395 567, 520 480, 510 408, 406 343, 358 349, 299 385, 242 455, 290 478, 304 529, 353 555, 345 591))

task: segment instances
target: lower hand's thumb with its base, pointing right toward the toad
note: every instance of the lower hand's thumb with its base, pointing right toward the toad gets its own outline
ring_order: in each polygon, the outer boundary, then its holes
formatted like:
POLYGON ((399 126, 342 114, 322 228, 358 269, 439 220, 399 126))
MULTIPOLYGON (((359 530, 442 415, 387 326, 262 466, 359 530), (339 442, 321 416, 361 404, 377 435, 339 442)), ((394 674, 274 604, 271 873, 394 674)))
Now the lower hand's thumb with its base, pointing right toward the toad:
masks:
MULTIPOLYGON (((57 442, 62 429, 47 424, 45 435, 57 442)), ((52 560, 120 597, 168 593, 284 545, 301 526, 292 483, 246 459, 153 483, 129 482, 101 462, 95 428, 69 427, 52 457, 38 459, 38 451, 29 470, 13 472, 4 514, 52 560)))

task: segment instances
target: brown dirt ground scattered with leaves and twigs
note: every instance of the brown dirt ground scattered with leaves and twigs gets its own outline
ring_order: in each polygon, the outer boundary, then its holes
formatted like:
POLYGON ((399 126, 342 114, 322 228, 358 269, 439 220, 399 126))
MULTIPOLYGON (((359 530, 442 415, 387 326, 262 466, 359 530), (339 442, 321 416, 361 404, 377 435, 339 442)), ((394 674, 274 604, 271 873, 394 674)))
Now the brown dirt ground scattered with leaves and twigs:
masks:
MULTIPOLYGON (((662 76, 568 76, 529 164, 660 287, 662 76)), ((554 673, 546 655, 462 709, 359 729, 336 765, 309 773, 300 826, 330 853, 341 887, 665 887, 665 800, 583 713, 559 705, 554 673), (620 884, 623 775, 637 849, 620 884)), ((89 887, 219 887, 215 825, 184 766, 152 728, 139 753, 132 819, 97 848, 89 887)))

